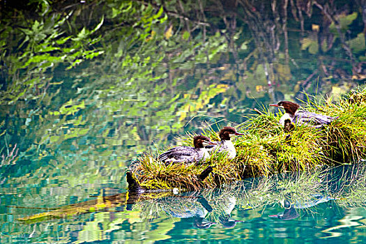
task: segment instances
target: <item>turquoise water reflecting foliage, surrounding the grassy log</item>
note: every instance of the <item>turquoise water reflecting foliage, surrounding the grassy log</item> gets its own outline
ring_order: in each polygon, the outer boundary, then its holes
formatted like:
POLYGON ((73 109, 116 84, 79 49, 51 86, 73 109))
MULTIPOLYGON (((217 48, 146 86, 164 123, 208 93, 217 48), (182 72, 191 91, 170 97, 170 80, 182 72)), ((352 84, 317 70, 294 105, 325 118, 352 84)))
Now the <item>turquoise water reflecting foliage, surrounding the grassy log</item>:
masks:
POLYGON ((0 243, 366 243, 365 162, 178 194, 125 182, 186 132, 364 87, 362 1, 319 3, 338 24, 301 0, 31 2, 0 1, 0 243))

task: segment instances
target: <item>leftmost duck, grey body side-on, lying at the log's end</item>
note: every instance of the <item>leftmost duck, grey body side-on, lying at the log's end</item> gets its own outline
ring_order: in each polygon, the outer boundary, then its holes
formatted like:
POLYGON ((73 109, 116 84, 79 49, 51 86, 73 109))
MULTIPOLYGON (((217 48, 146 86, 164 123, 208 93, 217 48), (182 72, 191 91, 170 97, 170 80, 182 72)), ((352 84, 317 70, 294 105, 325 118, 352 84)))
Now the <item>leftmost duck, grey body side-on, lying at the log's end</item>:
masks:
POLYGON ((205 146, 215 145, 217 142, 211 141, 204 135, 193 137, 194 148, 190 146, 176 146, 169 149, 165 153, 158 155, 158 159, 165 162, 165 165, 176 162, 185 162, 187 164, 199 161, 206 161, 210 154, 205 146))

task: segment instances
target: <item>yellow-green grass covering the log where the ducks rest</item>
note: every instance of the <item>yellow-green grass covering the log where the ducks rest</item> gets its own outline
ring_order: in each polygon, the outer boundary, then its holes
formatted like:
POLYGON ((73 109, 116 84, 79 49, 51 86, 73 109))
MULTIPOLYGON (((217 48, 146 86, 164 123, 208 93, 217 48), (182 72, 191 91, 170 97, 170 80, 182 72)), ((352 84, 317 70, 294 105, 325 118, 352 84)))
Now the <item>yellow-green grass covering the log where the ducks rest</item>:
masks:
MULTIPOLYGON (((131 173, 142 188, 199 190, 248 177, 357 162, 366 158, 365 97, 366 89, 358 88, 338 102, 308 100, 303 109, 337 117, 323 128, 297 125, 285 132, 278 123, 280 116, 264 109, 238 125, 238 130, 245 135, 234 140, 237 155, 233 160, 216 154, 206 161, 206 166, 165 165, 155 155, 144 155, 131 173), (212 173, 201 181, 197 176, 207 165, 212 167, 212 173)), ((203 134, 218 139, 212 128, 203 134)), ((189 134, 178 139, 184 146, 190 146, 194 136, 189 134)))

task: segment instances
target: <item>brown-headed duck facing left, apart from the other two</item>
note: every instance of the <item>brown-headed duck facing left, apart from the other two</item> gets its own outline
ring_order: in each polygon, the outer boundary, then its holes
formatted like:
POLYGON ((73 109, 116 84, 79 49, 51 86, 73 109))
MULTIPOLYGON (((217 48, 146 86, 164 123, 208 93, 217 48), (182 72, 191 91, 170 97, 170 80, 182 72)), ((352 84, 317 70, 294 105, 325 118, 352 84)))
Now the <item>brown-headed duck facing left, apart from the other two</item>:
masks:
MULTIPOLYGON (((276 104, 270 104, 273 107, 284 109, 285 114, 280 119, 280 124, 285 128, 289 126, 289 121, 294 124, 310 124, 314 128, 321 128, 323 125, 328 125, 338 117, 331 117, 323 114, 298 110, 300 105, 290 101, 280 101, 276 104)), ((293 126, 290 125, 291 128, 293 126)))

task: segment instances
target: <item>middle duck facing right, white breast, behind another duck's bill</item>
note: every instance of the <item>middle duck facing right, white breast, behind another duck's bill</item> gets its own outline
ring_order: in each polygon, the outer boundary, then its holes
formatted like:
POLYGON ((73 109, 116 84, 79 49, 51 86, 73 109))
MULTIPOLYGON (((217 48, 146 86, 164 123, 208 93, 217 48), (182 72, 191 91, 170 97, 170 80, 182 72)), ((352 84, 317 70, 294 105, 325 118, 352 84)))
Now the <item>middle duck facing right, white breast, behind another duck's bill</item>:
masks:
POLYGON ((236 128, 231 126, 225 126, 219 132, 220 142, 216 146, 206 146, 209 153, 221 153, 227 152, 227 158, 233 159, 236 157, 236 149, 231 137, 234 135, 245 135, 236 131, 236 128))

